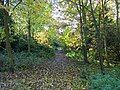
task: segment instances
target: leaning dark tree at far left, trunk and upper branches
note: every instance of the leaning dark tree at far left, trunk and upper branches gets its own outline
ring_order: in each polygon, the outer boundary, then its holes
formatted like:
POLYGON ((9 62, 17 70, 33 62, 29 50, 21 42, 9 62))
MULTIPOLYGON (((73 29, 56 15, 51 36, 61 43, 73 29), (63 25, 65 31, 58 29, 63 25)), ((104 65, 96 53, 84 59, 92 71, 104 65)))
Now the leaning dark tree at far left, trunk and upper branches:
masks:
MULTIPOLYGON (((19 1, 19 3, 17 3, 13 10, 21 3, 21 0, 19 1)), ((1 0, 0 1, 1 7, 0 10, 3 14, 3 26, 4 26, 4 33, 5 33, 5 37, 6 37, 6 50, 8 53, 8 59, 9 59, 9 71, 11 73, 14 73, 14 56, 12 53, 12 48, 11 48, 11 44, 10 44, 10 33, 9 33, 9 28, 10 28, 10 14, 9 14, 9 10, 10 10, 10 0, 1 0)), ((12 14, 11 14, 12 15, 12 14)))

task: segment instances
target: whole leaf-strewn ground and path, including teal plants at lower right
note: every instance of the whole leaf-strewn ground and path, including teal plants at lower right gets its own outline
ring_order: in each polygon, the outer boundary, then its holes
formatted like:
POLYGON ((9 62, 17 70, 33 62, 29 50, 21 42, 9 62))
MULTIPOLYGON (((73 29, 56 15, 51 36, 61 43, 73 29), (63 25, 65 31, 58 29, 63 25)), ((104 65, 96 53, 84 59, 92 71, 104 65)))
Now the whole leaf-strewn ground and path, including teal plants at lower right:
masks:
POLYGON ((78 64, 61 52, 32 69, 0 73, 0 90, 120 90, 120 70, 99 73, 95 65, 78 64))

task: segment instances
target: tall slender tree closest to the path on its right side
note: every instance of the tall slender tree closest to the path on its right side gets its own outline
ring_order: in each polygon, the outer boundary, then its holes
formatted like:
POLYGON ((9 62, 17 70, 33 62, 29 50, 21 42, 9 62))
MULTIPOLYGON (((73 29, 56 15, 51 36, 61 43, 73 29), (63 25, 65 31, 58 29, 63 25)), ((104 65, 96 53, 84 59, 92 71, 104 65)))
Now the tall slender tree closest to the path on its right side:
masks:
POLYGON ((82 46, 81 46, 81 51, 83 54, 83 60, 85 63, 89 63, 88 61, 88 50, 87 50, 87 18, 86 18, 86 8, 85 6, 87 5, 87 1, 83 1, 83 0, 78 0, 78 1, 73 1, 73 0, 69 0, 68 1, 68 5, 70 6, 69 8, 76 8, 77 9, 77 13, 79 15, 79 25, 80 25, 80 37, 81 37, 81 42, 82 42, 82 46), (72 7, 71 7, 72 6, 72 7))

